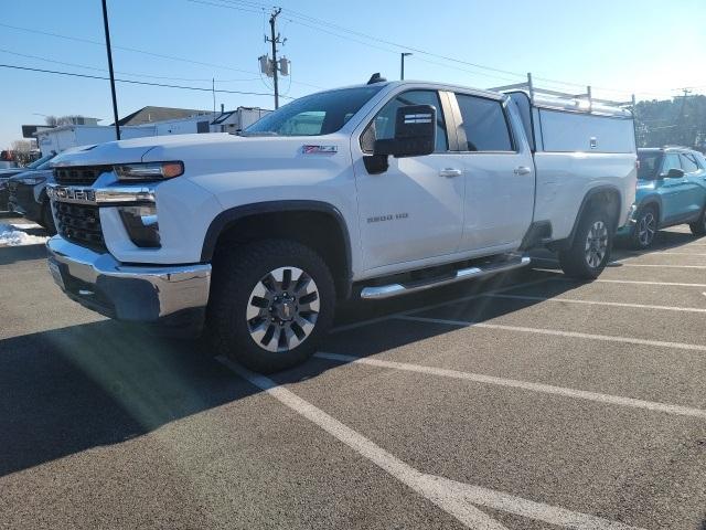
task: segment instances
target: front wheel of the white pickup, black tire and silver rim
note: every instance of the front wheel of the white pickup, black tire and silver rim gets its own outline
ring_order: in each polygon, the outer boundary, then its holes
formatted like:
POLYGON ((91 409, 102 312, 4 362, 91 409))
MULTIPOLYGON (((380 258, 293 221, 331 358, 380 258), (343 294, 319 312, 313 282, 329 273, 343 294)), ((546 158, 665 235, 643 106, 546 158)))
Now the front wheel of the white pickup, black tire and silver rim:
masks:
POLYGON ((218 353, 271 373, 306 361, 333 322, 331 273, 311 248, 266 240, 214 264, 207 330, 218 353))

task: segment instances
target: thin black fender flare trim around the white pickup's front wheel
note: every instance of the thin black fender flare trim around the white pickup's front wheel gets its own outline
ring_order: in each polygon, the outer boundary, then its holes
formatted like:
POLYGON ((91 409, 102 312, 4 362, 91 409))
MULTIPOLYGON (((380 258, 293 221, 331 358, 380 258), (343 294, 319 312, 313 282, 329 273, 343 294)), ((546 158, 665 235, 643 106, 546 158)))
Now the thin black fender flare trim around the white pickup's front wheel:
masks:
POLYGON ((267 202, 255 202, 252 204, 244 204, 240 206, 229 208, 227 210, 218 213, 211 224, 208 225, 208 230, 206 230, 206 234, 203 241, 203 247, 201 251, 201 262, 210 263, 213 259, 213 253, 216 247, 216 243, 218 237, 223 233, 224 230, 237 221, 259 214, 267 213, 282 213, 282 212, 315 212, 315 213, 324 213, 331 216, 341 232, 341 237, 343 239, 343 248, 345 253, 345 271, 343 271, 342 279, 350 286, 352 285, 352 256, 351 256, 351 236, 349 234, 349 229, 345 223, 345 219, 341 211, 335 208, 333 204, 323 201, 312 201, 312 200, 282 200, 282 201, 267 201, 267 202))

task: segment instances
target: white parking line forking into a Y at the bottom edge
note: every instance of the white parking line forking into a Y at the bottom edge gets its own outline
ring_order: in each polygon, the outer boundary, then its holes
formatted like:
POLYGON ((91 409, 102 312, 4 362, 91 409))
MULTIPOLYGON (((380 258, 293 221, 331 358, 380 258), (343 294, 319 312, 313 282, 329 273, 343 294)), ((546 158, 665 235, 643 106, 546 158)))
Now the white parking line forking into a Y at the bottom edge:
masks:
POLYGON ((359 455, 387 471, 468 528, 507 530, 506 527, 477 508, 477 506, 483 506, 498 511, 577 530, 639 530, 621 522, 421 473, 383 449, 357 431, 352 430, 321 409, 302 400, 290 390, 278 385, 271 379, 250 372, 225 358, 218 358, 218 360, 250 384, 267 392, 285 406, 306 417, 339 442, 347 445, 359 455))

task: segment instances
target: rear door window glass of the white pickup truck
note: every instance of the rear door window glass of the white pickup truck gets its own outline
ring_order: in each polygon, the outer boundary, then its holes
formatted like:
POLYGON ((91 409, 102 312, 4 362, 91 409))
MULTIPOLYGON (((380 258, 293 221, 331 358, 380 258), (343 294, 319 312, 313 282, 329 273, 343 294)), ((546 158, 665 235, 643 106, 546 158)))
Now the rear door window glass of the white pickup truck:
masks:
POLYGON ((464 151, 513 151, 512 138, 502 104, 484 97, 457 94, 461 127, 466 132, 464 151))

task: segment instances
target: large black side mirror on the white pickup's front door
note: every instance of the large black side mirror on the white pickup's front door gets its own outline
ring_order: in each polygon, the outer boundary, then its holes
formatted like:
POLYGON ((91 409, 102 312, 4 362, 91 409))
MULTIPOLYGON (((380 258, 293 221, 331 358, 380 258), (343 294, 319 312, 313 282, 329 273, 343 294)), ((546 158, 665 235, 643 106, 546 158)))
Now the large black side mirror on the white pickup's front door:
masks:
POLYGON ((373 156, 405 158, 431 155, 436 140, 436 108, 431 105, 406 105, 397 109, 395 137, 375 140, 373 156))

